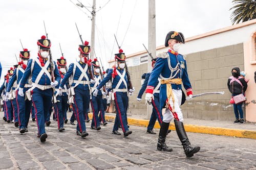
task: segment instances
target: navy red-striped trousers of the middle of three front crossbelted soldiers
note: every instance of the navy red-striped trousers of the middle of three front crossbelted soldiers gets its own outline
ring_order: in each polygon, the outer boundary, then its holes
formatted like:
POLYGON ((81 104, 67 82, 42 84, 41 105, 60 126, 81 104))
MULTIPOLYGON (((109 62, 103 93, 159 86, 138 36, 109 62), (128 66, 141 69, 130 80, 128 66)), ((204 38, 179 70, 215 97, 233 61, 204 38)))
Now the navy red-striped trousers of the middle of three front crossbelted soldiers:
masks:
POLYGON ((76 111, 77 126, 79 132, 86 131, 84 122, 84 110, 88 110, 90 104, 90 91, 75 88, 74 107, 76 111))

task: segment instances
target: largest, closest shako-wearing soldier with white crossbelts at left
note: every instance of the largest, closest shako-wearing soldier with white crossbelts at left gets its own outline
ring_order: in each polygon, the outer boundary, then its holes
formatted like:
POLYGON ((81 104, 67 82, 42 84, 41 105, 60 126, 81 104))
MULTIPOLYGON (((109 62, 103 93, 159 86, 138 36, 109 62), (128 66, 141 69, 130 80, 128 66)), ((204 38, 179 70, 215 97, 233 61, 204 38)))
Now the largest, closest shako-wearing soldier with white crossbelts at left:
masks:
POLYGON ((59 84, 60 75, 56 63, 51 63, 50 61, 51 41, 46 39, 46 36, 41 36, 41 39, 37 41, 37 45, 38 58, 29 60, 19 83, 18 95, 24 96, 24 88, 26 88, 26 82, 31 75, 32 87, 26 91, 26 96, 30 98, 31 95, 29 93, 31 92, 38 128, 37 136, 41 142, 45 142, 48 137, 45 131, 45 118, 52 102, 53 88, 59 84), (53 70, 51 69, 51 64, 53 64, 53 70))

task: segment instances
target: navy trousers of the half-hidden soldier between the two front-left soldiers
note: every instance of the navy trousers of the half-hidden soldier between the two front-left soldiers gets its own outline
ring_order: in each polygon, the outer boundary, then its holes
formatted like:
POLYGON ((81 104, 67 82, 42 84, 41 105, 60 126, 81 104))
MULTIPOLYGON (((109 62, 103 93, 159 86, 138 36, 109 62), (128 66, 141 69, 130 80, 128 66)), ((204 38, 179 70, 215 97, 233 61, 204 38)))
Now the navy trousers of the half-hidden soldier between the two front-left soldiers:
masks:
POLYGON ((67 113, 67 101, 68 95, 67 93, 63 93, 63 95, 57 96, 57 103, 54 104, 54 112, 56 113, 56 118, 58 120, 58 129, 64 126, 63 117, 65 116, 65 113, 67 113))

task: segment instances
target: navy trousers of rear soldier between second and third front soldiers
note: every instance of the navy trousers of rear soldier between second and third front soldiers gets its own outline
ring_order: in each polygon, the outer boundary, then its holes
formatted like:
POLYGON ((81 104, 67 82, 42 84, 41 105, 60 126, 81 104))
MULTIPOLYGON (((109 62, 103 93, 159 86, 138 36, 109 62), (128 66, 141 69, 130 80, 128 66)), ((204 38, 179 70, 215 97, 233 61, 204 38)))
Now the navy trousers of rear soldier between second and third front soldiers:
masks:
POLYGON ((93 118, 91 127, 97 128, 99 127, 99 110, 102 104, 102 95, 97 95, 96 97, 93 95, 91 100, 91 107, 93 110, 93 118))

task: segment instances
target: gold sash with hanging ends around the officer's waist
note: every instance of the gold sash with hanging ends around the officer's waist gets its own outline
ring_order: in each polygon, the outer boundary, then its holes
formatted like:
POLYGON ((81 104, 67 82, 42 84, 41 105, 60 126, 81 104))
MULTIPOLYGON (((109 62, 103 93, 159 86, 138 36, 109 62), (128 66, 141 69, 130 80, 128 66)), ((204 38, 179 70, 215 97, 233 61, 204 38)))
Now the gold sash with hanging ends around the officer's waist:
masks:
MULTIPOLYGON (((168 80, 161 80, 161 84, 166 84, 166 95, 167 95, 167 100, 170 99, 170 96, 172 96, 173 103, 175 103, 174 100, 174 94, 173 94, 173 88, 172 84, 177 84, 180 85, 182 83, 182 79, 168 79, 168 80)), ((166 103, 166 108, 168 108, 168 103, 166 103)), ((172 112, 175 112, 175 108, 173 106, 172 112)))

